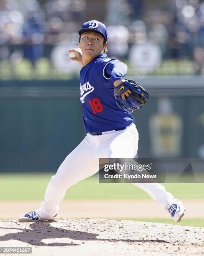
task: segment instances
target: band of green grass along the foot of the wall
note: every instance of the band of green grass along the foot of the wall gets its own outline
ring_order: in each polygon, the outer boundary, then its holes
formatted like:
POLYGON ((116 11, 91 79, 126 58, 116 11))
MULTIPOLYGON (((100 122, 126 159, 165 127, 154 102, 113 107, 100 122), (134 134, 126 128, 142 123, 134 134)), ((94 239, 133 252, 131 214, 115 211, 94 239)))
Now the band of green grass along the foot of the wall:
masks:
MULTIPOLYGON (((42 200, 53 173, 0 174, 0 200, 42 200)), ((204 199, 203 183, 164 184, 179 199, 204 199)), ((149 199, 149 195, 132 184, 100 184, 89 177, 67 190, 65 199, 149 199)))

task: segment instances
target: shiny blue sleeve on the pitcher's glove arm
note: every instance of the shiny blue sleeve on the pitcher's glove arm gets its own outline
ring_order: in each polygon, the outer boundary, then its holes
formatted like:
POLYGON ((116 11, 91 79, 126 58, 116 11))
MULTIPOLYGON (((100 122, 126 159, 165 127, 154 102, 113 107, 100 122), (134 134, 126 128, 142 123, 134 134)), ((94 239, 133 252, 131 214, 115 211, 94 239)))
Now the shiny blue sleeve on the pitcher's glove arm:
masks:
POLYGON ((127 74, 128 68, 127 65, 117 59, 108 61, 103 69, 103 77, 105 79, 111 79, 111 82, 116 80, 123 79, 127 74))

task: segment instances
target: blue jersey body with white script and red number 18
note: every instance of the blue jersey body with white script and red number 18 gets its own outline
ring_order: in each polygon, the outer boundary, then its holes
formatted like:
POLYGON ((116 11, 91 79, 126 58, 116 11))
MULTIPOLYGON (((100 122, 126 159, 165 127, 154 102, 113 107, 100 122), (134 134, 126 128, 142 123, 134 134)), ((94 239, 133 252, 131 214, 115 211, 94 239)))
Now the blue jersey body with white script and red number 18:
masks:
POLYGON ((89 133, 111 131, 133 122, 132 114, 116 105, 113 81, 105 73, 111 61, 113 59, 108 59, 106 54, 101 54, 80 71, 80 100, 83 120, 89 133))

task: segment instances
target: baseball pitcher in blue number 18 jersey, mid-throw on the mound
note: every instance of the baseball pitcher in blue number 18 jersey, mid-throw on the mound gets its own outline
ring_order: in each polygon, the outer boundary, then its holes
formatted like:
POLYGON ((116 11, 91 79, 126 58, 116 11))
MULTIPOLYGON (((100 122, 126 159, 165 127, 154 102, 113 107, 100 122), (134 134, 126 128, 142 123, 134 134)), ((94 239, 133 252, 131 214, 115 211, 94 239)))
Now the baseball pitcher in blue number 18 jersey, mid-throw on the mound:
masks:
MULTIPOLYGON (((20 217, 20 222, 56 218, 66 190, 98 172, 99 158, 133 158, 137 154, 139 136, 131 113, 146 103, 149 94, 135 81, 124 79, 126 64, 107 57, 108 33, 103 23, 85 22, 78 33, 79 47, 69 53, 71 60, 82 64, 80 101, 87 134, 51 178, 40 208, 20 217)), ((181 220, 183 203, 164 186, 134 185, 146 191, 176 222, 181 220)))

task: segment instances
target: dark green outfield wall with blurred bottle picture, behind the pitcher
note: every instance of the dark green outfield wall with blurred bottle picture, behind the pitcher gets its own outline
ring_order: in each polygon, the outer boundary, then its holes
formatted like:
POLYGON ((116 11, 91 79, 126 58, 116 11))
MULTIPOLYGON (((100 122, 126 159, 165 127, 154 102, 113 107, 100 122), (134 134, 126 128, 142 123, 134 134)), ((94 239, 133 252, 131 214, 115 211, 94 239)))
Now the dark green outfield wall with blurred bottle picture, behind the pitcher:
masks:
MULTIPOLYGON (((137 80, 151 95, 133 114, 139 157, 204 157, 203 77, 137 80)), ((0 81, 0 172, 58 168, 86 135, 79 84, 0 81)))

